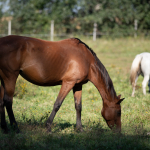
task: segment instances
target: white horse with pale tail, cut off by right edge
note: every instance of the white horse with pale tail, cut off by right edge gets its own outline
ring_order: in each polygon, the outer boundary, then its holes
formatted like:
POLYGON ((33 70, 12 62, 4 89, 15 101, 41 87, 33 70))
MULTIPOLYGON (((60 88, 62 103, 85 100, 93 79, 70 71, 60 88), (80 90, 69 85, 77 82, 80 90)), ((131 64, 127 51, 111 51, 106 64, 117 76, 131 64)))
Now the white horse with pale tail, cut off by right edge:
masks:
POLYGON ((138 76, 142 75, 144 80, 142 82, 143 94, 146 95, 146 85, 149 81, 149 91, 150 91, 150 53, 144 52, 136 55, 135 59, 132 62, 131 72, 130 72, 130 81, 132 84, 132 96, 134 96, 136 82, 138 76))

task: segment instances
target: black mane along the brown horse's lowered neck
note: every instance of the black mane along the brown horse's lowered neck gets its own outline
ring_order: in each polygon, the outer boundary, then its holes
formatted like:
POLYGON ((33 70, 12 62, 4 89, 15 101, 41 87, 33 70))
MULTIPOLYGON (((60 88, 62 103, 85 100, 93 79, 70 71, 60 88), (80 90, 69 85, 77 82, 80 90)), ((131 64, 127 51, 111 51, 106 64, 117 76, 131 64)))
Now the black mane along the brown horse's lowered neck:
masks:
POLYGON ((94 58, 96 60, 96 65, 97 65, 98 70, 100 71, 102 79, 104 79, 104 81, 105 81, 107 90, 110 92, 111 96, 113 98, 115 98, 116 92, 115 92, 112 80, 111 80, 106 68, 101 63, 101 61, 98 59, 98 57, 96 56, 96 53, 88 45, 86 45, 84 42, 82 42, 80 39, 78 39, 78 38, 73 38, 73 39, 78 40, 78 44, 81 43, 81 44, 85 45, 85 47, 92 53, 92 55, 94 56, 94 58))

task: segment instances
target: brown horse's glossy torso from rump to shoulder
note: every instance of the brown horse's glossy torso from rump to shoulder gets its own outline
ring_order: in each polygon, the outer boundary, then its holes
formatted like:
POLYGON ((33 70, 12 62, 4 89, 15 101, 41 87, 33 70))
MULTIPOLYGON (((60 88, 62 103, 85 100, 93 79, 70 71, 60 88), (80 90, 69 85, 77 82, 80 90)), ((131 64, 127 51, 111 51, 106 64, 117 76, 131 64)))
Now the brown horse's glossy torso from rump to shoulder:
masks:
POLYGON ((93 57, 90 51, 75 39, 50 42, 8 36, 1 41, 0 39, 3 50, 0 53, 7 53, 5 57, 3 55, 3 59, 7 59, 8 68, 14 72, 19 71, 25 79, 34 84, 57 85, 63 80, 79 83, 88 79, 93 57))

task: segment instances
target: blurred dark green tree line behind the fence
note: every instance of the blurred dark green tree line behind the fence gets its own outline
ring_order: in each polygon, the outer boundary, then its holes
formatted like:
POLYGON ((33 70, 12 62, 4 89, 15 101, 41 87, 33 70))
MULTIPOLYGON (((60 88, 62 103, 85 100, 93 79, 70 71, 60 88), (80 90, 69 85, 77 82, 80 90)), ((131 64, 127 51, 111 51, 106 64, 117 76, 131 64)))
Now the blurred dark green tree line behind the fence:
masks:
POLYGON ((0 18, 7 16, 12 16, 15 34, 47 33, 51 20, 58 34, 93 32, 97 23, 100 34, 129 36, 135 32, 135 20, 138 32, 148 34, 150 0, 1 0, 0 18))

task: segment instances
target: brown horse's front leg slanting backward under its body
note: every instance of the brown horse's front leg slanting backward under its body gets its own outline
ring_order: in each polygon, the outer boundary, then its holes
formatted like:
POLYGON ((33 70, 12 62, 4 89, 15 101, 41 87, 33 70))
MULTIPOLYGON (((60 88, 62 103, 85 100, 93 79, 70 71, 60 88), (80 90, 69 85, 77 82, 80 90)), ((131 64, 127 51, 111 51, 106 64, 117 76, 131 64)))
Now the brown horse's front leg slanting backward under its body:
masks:
POLYGON ((74 82, 63 82, 62 83, 62 86, 59 91, 58 97, 55 101, 52 113, 46 122, 47 132, 51 132, 51 125, 52 125, 53 119, 54 119, 57 111, 59 110, 63 100, 65 99, 65 97, 67 96, 67 94, 73 88, 74 85, 75 85, 74 82))

